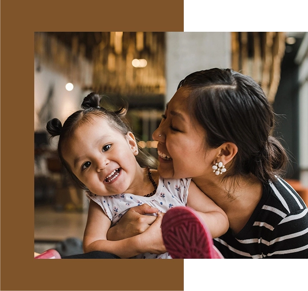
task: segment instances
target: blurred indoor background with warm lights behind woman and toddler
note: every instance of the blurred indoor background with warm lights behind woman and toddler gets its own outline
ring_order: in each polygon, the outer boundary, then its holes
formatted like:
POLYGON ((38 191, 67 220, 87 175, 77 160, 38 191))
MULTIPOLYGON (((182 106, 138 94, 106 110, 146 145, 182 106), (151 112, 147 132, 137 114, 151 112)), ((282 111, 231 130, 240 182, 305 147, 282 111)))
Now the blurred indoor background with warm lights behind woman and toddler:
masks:
POLYGON ((287 179, 308 204, 308 32, 35 32, 34 251, 82 252, 88 201, 59 163, 45 129, 80 109, 90 92, 103 106, 128 103, 140 146, 189 73, 230 67, 250 75, 278 114, 273 135, 290 157, 287 179))

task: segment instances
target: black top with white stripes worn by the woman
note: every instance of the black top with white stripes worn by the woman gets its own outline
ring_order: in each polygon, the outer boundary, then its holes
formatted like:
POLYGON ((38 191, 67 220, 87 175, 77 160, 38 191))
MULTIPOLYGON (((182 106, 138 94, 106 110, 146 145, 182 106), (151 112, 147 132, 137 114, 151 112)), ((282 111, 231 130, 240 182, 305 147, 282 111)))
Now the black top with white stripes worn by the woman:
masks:
POLYGON ((308 209, 283 179, 263 186, 260 202, 245 227, 214 243, 227 261, 308 261, 308 209))

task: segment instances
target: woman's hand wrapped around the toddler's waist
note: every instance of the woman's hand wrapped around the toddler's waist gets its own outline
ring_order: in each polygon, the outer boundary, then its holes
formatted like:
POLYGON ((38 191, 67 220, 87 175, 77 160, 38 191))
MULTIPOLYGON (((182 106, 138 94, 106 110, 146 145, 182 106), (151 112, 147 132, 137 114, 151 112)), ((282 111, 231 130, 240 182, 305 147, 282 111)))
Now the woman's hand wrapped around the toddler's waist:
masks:
MULTIPOLYGON (((144 233, 156 220, 153 214, 158 211, 157 208, 148 204, 130 208, 114 227, 107 233, 108 240, 120 240, 144 233)), ((159 226, 160 227, 160 226, 159 226)))

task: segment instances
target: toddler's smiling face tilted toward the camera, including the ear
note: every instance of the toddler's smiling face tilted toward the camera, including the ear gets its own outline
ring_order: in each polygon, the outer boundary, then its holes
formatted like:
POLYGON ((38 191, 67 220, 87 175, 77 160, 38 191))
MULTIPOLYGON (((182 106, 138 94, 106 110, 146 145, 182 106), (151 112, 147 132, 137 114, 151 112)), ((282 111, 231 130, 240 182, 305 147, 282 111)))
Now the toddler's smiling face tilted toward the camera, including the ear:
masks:
POLYGON ((81 124, 63 149, 63 158, 77 178, 94 194, 106 196, 134 187, 138 165, 132 133, 123 136, 108 121, 94 116, 81 124))

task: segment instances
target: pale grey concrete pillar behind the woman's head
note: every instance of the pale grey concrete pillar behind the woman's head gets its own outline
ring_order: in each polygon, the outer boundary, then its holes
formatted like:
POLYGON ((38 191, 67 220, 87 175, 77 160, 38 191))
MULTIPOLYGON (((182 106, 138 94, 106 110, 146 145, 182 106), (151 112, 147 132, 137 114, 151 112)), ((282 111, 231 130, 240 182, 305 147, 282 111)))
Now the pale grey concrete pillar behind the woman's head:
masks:
POLYGON ((166 97, 188 74, 231 67, 231 32, 166 32, 166 97))

